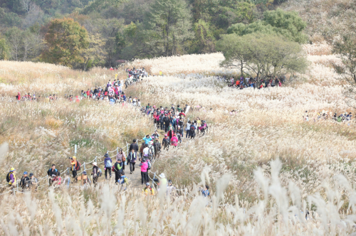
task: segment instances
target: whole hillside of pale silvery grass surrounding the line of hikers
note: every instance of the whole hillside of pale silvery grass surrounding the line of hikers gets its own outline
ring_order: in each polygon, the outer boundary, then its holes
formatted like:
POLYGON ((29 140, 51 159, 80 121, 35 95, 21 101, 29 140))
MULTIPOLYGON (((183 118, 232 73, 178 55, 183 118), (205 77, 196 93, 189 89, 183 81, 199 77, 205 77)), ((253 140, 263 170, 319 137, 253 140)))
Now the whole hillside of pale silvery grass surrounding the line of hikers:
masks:
MULTIPOLYGON (((342 81, 330 67, 339 59, 330 55, 326 44, 303 45, 303 50, 311 63, 305 73, 288 77, 281 87, 261 90, 239 90, 217 78, 239 77, 239 71, 219 66, 224 60, 220 53, 132 61, 127 67, 145 67, 152 76, 129 85, 127 97, 137 97, 142 106, 189 104, 185 122, 199 117, 209 126, 206 134, 162 151, 153 164, 150 178, 165 173, 177 191, 145 196, 136 177, 126 191, 104 177, 97 186, 86 188, 72 183, 68 189, 53 190, 40 182, 44 186, 38 191, 16 196, 5 187, 0 195, 1 234, 354 232, 356 124, 354 119, 332 119, 334 112, 353 112, 343 99, 342 81), (159 71, 164 76, 157 76, 159 71), (198 191, 205 184, 210 187, 209 198, 198 191)), ((46 176, 52 163, 66 171, 75 144, 78 159, 90 165, 95 156, 151 134, 152 119, 127 102, 68 100, 68 95, 75 97, 81 90, 105 87, 115 74, 119 80, 127 77, 122 68, 83 72, 1 61, 0 143, 9 143, 9 152, 1 159, 1 181, 10 167, 16 168, 18 178, 23 171, 46 176), (17 92, 41 97, 38 102, 16 102, 17 92), (46 99, 53 94, 58 100, 46 99)), ((164 134, 160 129, 159 133, 164 134)))

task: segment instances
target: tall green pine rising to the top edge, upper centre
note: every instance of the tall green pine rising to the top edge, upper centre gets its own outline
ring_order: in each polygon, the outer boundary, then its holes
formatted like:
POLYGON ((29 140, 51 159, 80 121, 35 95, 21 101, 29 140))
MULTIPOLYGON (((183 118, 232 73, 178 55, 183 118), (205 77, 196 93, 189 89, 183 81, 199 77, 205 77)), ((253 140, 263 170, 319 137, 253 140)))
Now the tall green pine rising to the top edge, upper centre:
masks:
POLYGON ((165 56, 184 51, 184 41, 192 38, 190 19, 184 0, 155 0, 147 14, 147 28, 153 36, 147 46, 157 48, 165 56))

